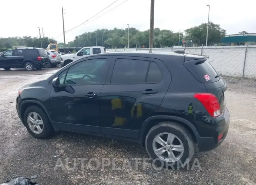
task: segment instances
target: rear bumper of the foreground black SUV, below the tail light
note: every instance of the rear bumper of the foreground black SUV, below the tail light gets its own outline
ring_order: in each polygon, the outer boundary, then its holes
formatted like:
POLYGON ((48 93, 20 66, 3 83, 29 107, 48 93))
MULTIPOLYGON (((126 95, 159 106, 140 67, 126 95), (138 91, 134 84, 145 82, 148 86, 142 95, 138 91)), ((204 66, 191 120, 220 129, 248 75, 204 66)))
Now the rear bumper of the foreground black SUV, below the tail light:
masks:
POLYGON ((220 121, 221 126, 218 126, 216 128, 216 131, 219 134, 223 134, 220 141, 217 141, 218 140, 217 136, 216 136, 216 138, 206 138, 206 137, 197 138, 199 151, 209 151, 209 150, 215 149, 224 141, 224 139, 226 138, 226 136, 228 134, 229 117, 230 117, 229 111, 228 111, 228 109, 226 109, 223 114, 224 119, 220 121))

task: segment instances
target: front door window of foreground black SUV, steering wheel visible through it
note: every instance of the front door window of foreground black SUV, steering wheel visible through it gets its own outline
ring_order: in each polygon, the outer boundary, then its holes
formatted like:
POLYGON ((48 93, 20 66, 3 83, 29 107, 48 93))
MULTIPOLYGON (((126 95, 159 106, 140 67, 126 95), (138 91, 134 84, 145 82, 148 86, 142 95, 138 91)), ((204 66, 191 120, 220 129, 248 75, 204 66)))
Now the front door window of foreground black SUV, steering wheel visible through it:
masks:
POLYGON ((68 69, 65 84, 100 83, 107 59, 85 60, 68 69))

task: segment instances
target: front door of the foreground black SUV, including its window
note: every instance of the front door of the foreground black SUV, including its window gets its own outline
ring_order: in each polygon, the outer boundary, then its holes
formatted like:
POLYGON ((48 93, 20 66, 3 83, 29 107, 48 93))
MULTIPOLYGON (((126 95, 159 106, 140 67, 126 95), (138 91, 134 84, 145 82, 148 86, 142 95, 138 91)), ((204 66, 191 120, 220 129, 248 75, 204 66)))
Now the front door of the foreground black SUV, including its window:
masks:
POLYGON ((100 133, 100 93, 110 57, 90 57, 63 68, 56 76, 60 91, 50 92, 54 126, 63 130, 100 133))

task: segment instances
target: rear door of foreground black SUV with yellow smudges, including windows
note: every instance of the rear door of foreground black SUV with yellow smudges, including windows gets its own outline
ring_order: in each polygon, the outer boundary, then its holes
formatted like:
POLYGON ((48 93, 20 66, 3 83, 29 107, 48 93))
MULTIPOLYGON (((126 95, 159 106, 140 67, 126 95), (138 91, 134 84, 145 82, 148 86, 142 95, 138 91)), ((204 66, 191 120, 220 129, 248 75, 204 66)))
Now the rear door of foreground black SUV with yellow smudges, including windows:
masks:
POLYGON ((100 96, 101 132, 137 139, 143 121, 157 113, 170 82, 161 60, 113 56, 100 96))

